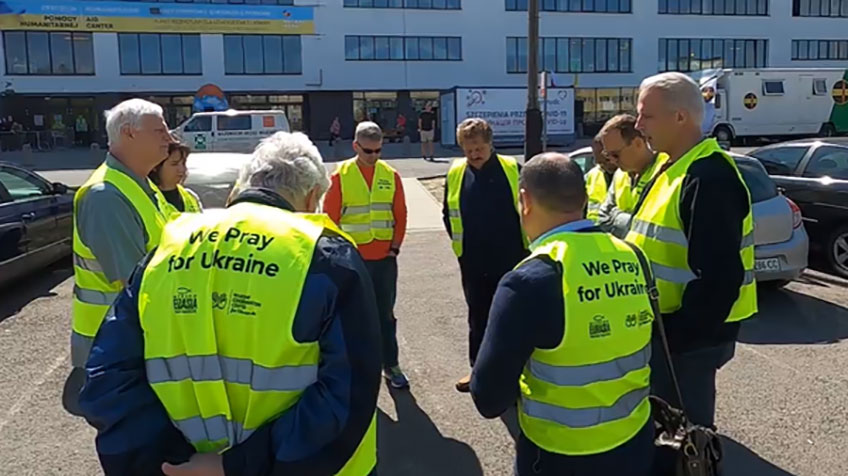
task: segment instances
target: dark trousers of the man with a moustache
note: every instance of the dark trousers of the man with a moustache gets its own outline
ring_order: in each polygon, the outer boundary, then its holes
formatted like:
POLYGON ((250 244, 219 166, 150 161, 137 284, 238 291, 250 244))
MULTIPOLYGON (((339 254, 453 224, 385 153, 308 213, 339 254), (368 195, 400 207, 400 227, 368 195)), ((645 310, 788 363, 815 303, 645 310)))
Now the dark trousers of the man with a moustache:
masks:
POLYGON ((492 307, 492 298, 498 289, 498 282, 503 273, 480 272, 461 266, 462 291, 465 293, 465 302, 468 304, 468 360, 471 366, 477 360, 477 352, 483 343, 483 335, 486 333, 486 323, 489 322, 489 308, 492 307))

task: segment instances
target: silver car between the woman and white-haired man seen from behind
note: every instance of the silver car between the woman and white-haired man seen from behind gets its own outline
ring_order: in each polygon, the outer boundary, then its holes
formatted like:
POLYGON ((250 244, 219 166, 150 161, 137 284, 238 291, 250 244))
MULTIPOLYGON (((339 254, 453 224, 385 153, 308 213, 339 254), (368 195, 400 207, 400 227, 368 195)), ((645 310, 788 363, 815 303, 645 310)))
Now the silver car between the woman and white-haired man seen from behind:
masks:
POLYGON ((222 208, 238 174, 252 154, 235 152, 192 152, 188 156, 185 186, 200 197, 204 208, 222 208))

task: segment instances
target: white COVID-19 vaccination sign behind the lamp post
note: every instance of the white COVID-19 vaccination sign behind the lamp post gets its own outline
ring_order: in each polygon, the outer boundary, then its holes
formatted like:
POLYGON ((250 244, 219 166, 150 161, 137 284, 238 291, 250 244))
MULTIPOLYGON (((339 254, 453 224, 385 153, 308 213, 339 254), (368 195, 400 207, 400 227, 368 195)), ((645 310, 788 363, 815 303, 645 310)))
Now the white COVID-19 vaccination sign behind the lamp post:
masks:
MULTIPOLYGON (((548 88, 548 135, 574 133, 574 90, 548 88)), ((456 90, 457 123, 469 117, 485 119, 495 136, 523 136, 527 89, 474 88, 456 90)))

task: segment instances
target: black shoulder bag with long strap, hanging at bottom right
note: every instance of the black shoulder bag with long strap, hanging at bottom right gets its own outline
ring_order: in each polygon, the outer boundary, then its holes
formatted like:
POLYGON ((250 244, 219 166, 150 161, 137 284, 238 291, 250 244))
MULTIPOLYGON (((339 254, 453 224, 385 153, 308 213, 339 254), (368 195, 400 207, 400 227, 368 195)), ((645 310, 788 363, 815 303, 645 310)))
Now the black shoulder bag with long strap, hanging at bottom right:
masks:
POLYGON ((636 253, 645 273, 645 281, 648 284, 648 298, 651 300, 651 308, 654 311, 654 322, 662 340, 668 374, 671 376, 679 407, 675 408, 657 396, 652 395, 650 397, 654 422, 657 426, 655 444, 661 448, 671 448, 677 453, 674 476, 721 476, 723 474, 721 463, 724 455, 718 434, 712 428, 691 423, 686 417, 683 395, 680 393, 680 385, 677 382, 677 375, 674 373, 674 365, 671 362, 668 338, 660 313, 659 292, 651 267, 642 250, 632 243, 627 244, 636 253))

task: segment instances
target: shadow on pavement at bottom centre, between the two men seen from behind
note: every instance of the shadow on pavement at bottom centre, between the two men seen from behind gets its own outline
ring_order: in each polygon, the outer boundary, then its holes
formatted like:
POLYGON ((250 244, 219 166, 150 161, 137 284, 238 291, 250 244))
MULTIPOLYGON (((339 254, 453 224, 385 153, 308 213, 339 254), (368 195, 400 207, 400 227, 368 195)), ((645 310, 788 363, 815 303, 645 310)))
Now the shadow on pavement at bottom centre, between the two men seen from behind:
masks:
POLYGON ((482 476, 477 454, 467 444, 445 438, 408 390, 389 389, 398 421, 377 415, 380 476, 482 476))

